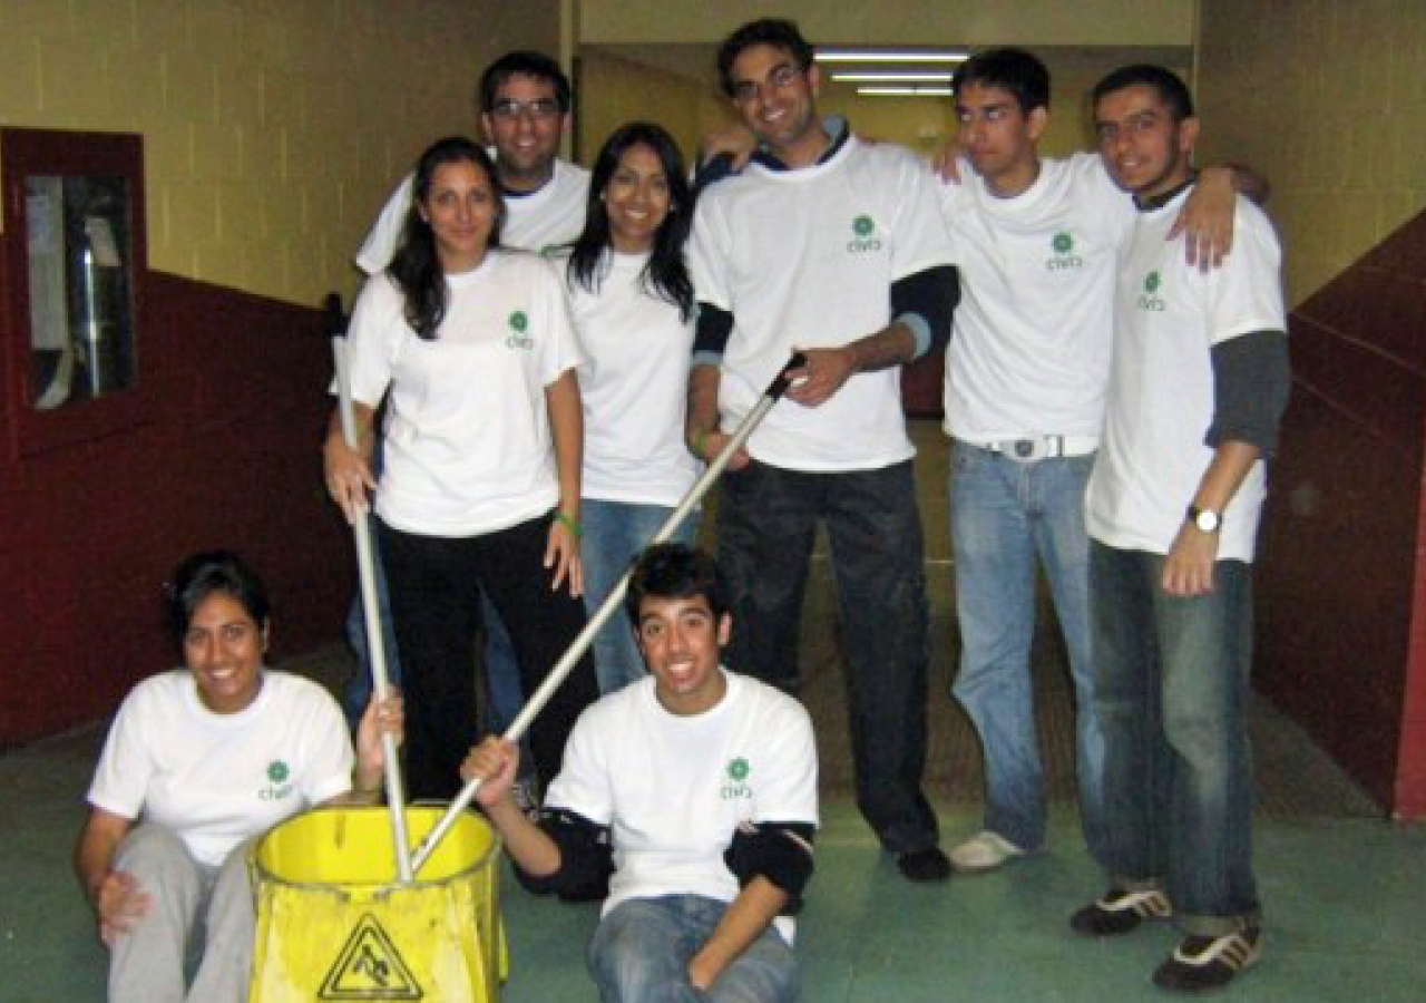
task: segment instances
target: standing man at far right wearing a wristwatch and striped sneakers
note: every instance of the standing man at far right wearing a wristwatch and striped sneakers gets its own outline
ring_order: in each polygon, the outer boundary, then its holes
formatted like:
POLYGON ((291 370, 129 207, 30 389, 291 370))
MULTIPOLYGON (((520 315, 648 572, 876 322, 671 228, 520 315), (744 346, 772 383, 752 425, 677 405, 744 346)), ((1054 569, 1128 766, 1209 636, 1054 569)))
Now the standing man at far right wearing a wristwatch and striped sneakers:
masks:
POLYGON ((1288 397, 1281 251, 1239 200, 1211 273, 1166 240, 1196 183, 1184 83, 1131 66, 1094 88, 1099 153, 1139 210, 1119 260, 1107 421, 1087 499, 1105 738, 1109 890, 1071 917, 1091 936, 1175 916, 1154 973, 1214 989, 1256 960, 1252 870, 1252 558, 1288 397))

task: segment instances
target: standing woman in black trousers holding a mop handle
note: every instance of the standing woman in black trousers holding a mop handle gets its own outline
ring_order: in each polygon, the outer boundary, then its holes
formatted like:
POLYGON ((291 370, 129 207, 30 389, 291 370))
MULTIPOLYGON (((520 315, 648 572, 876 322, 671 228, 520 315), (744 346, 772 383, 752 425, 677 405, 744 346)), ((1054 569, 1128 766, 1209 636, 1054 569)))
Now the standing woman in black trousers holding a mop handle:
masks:
MULTIPOLYGON (((416 164, 414 195, 404 243, 362 288, 347 334, 361 448, 347 447, 334 414, 325 462, 348 518, 375 492, 409 788, 446 799, 476 735, 479 589, 509 631, 526 693, 585 625, 582 354, 555 268, 499 247, 503 203, 485 150, 463 137, 435 143, 416 164), (382 397, 378 482, 366 458, 382 397)), ((530 730, 540 779, 559 770, 595 695, 586 655, 530 730)))

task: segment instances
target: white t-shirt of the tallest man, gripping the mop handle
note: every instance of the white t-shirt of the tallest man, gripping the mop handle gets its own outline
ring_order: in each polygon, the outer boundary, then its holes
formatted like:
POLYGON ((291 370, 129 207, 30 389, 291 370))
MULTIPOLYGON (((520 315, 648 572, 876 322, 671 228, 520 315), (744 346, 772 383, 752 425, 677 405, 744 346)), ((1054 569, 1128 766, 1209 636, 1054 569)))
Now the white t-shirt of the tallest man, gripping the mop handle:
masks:
MULTIPOLYGON (((752 164, 699 198, 689 268, 700 301, 733 314, 719 384, 732 431, 794 347, 844 345, 891 322, 891 284, 953 263, 931 174, 910 151, 848 137, 827 161, 752 164)), ((749 439, 790 469, 876 469, 914 455, 901 370, 851 377, 816 408, 783 401, 749 439)))

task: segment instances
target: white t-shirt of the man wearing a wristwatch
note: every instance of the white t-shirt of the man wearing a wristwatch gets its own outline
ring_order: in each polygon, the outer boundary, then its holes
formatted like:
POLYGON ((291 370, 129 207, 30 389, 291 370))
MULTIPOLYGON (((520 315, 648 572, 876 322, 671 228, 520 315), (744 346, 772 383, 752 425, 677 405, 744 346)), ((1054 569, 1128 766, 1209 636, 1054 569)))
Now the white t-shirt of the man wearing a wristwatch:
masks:
MULTIPOLYGON (((1238 198, 1233 253, 1208 274, 1184 260, 1168 230, 1188 193, 1141 213, 1115 302, 1109 405, 1089 478, 1089 535, 1108 546, 1168 554, 1214 451, 1212 348, 1253 331, 1286 331, 1282 253, 1272 224, 1238 198)), ((1266 489, 1258 461, 1219 529, 1219 559, 1252 561, 1266 489)))

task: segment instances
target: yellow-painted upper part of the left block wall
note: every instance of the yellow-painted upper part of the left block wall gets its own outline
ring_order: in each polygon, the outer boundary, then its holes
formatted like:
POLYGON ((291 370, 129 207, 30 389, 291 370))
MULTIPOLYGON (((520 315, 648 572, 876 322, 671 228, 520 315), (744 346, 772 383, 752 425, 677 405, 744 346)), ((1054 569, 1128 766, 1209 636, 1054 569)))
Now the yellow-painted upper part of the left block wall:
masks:
MULTIPOLYGON (((3 0, 0 124, 144 136, 154 268, 317 304, 558 0, 3 0)), ((3 166, 0 166, 3 170, 3 166)))

